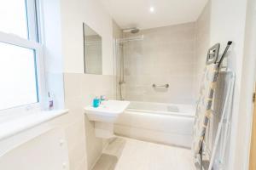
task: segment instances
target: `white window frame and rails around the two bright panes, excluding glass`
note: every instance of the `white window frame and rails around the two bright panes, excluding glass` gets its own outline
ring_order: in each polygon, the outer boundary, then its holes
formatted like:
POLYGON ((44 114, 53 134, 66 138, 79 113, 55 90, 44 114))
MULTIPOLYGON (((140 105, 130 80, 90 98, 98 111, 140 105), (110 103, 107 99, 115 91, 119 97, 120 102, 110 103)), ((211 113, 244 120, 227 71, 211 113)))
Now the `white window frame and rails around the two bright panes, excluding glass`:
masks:
POLYGON ((44 109, 44 100, 46 96, 45 75, 44 75, 44 51, 42 43, 38 42, 38 7, 37 0, 26 0, 27 30, 28 37, 23 38, 15 34, 0 31, 0 42, 9 43, 22 48, 30 48, 35 52, 36 69, 38 80, 38 102, 34 104, 21 105, 13 108, 0 110, 0 116, 5 114, 27 113, 28 111, 40 111, 44 109))

